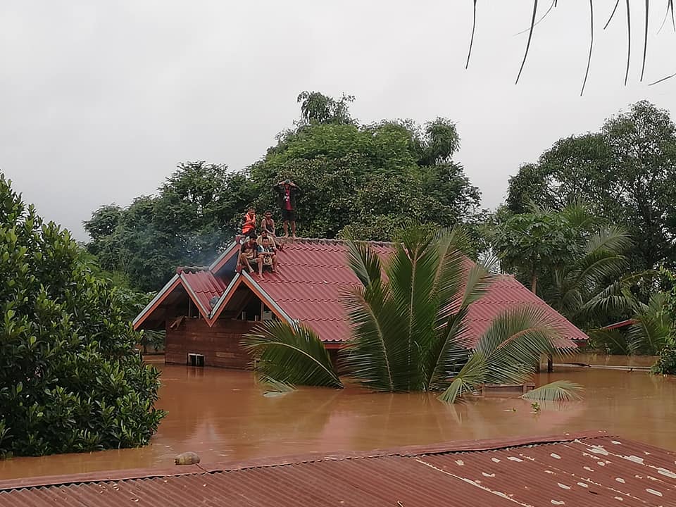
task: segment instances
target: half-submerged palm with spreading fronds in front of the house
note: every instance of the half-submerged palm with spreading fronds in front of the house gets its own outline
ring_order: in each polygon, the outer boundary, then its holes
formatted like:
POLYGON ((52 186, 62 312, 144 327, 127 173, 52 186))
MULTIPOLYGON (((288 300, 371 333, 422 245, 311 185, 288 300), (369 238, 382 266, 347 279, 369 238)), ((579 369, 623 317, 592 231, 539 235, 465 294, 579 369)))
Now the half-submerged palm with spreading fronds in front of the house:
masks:
MULTIPOLYGON (((453 403, 482 384, 525 382, 540 356, 555 352, 558 327, 533 308, 504 313, 478 344, 471 342, 468 308, 493 275, 470 266, 458 230, 431 235, 412 226, 385 264, 368 244, 347 245, 361 285, 345 295, 353 331, 340 361, 365 387, 442 392, 439 398, 453 403)), ((342 387, 319 337, 307 327, 262 323, 243 344, 268 382, 342 387)), ((542 392, 548 399, 568 399, 575 390, 553 384, 542 392)))

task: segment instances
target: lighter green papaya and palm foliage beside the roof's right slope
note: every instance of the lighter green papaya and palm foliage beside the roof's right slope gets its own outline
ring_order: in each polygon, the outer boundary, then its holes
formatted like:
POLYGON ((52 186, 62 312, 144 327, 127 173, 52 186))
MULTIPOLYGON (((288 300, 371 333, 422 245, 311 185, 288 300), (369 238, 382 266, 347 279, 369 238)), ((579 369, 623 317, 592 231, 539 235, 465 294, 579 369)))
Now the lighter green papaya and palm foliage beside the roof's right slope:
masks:
POLYGON ((503 270, 572 323, 589 329, 631 310, 634 297, 620 284, 629 269, 630 239, 586 204, 507 215, 491 237, 503 270))

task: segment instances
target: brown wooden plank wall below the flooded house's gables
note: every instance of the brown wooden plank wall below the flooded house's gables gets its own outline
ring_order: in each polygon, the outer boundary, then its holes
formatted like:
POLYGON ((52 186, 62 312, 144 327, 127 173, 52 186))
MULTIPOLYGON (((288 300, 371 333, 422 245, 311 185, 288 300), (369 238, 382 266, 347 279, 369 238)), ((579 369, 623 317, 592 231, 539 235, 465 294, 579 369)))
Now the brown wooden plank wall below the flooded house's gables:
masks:
POLYGON ((246 369, 251 356, 239 341, 256 325, 249 320, 217 320, 209 327, 201 318, 184 318, 175 329, 167 325, 165 363, 187 364, 189 353, 204 356, 205 366, 246 369))

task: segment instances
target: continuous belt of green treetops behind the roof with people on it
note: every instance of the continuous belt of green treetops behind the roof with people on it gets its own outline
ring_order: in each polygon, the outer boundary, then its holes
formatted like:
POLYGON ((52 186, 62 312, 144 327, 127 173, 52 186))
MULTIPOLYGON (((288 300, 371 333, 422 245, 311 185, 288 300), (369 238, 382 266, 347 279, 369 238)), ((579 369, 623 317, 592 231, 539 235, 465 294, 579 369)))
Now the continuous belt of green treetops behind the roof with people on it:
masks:
POLYGON ((455 124, 411 121, 360 125, 351 96, 299 96, 301 120, 280 134, 244 173, 225 165, 184 163, 158 190, 128 208, 103 206, 84 223, 88 249, 134 287, 157 290, 177 265, 211 262, 237 232, 246 208, 280 219, 271 188, 291 178, 303 189, 297 218, 303 237, 396 237, 415 216, 430 227, 475 223, 480 193, 452 160, 455 124))

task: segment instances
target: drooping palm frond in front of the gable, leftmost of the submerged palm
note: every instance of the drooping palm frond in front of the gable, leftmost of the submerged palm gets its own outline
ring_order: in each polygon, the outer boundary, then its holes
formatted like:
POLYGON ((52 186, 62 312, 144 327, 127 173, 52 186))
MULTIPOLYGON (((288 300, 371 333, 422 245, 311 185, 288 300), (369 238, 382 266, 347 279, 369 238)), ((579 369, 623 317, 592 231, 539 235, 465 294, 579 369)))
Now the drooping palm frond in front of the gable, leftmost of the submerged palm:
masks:
POLYGON ((342 387, 327 349, 308 327, 266 321, 242 337, 242 347, 256 358, 264 382, 342 387))

